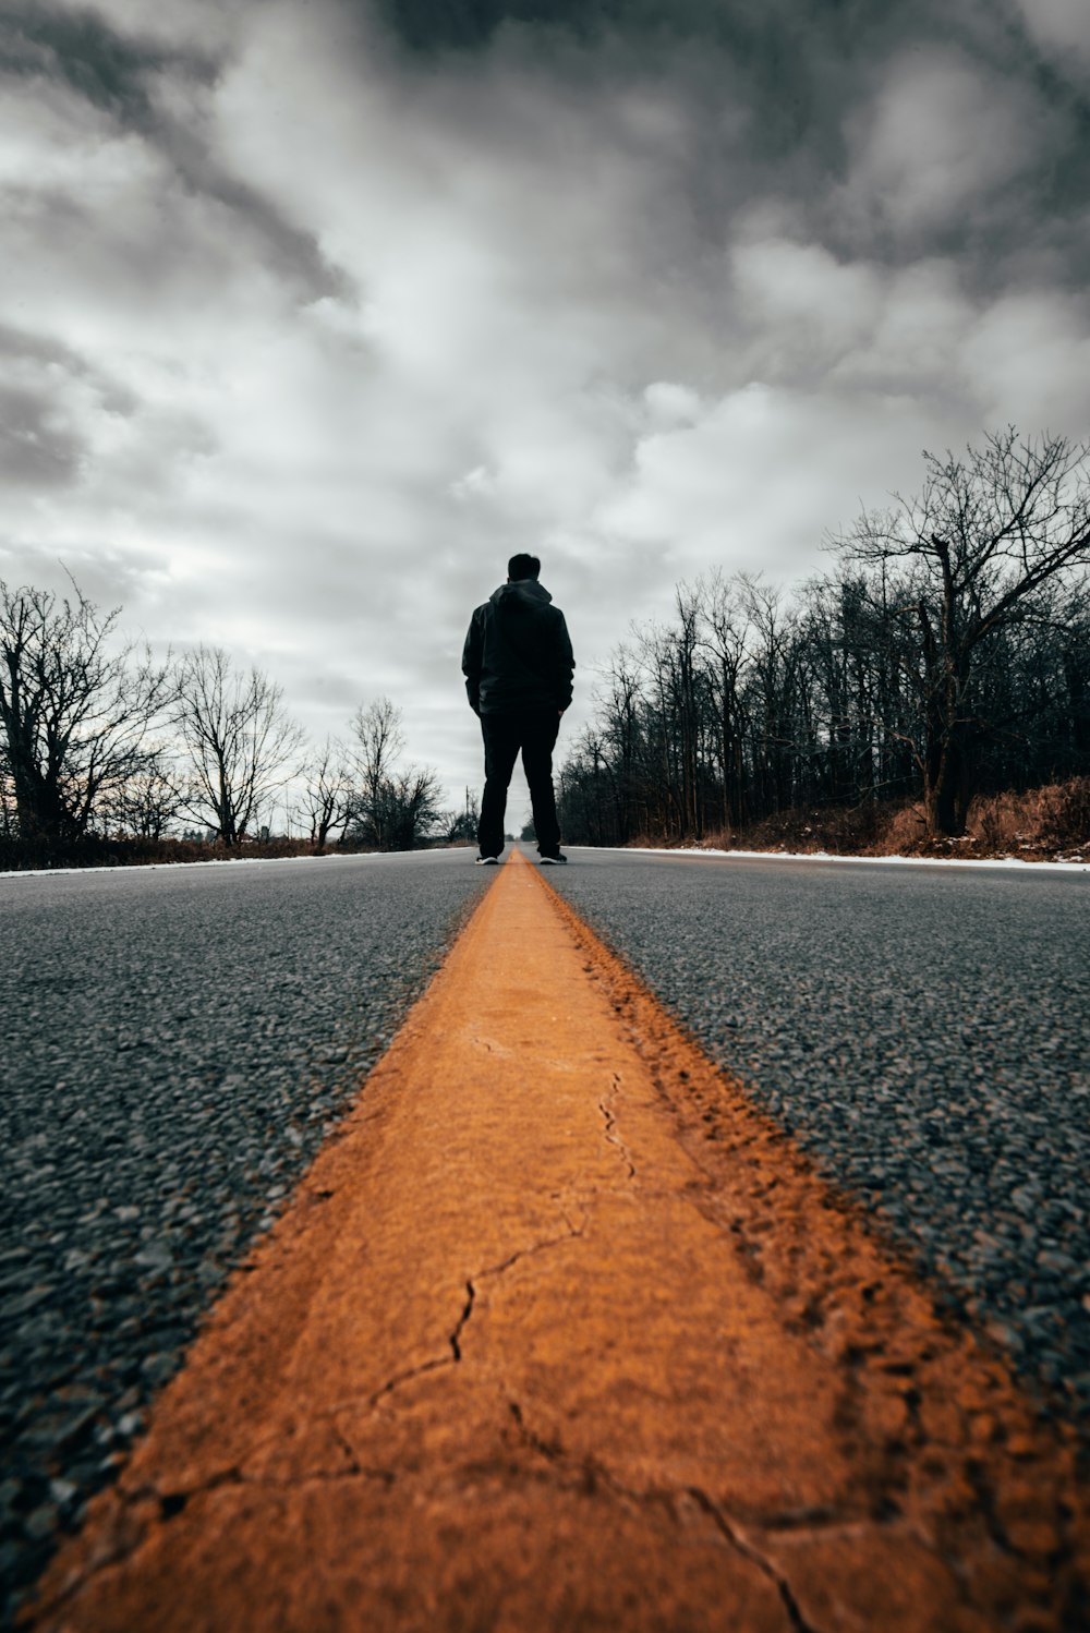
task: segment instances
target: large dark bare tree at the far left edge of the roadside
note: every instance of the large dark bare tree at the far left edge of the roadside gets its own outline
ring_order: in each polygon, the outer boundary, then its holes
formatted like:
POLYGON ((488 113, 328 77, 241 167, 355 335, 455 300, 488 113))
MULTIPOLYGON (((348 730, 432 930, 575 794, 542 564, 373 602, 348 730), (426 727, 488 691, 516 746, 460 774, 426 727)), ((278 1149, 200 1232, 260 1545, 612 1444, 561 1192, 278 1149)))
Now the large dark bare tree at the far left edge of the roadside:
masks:
POLYGON ((0 723, 21 838, 73 838, 148 759, 166 665, 117 640, 121 609, 0 581, 0 723))

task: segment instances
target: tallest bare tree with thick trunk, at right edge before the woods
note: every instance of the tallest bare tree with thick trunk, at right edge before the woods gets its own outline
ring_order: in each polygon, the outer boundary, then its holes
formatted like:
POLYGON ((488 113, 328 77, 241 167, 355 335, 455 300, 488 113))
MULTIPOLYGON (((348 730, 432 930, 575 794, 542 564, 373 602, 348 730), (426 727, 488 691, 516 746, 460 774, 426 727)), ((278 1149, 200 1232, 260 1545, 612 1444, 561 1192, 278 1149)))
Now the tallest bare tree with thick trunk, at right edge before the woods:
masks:
POLYGON ((835 544, 901 570, 896 616, 922 732, 912 750, 930 834, 961 834, 981 735, 974 683, 989 642, 1026 616, 1057 575, 1090 562, 1090 444, 1021 441, 1013 426, 964 459, 924 454, 927 477, 897 508, 863 513, 835 544))

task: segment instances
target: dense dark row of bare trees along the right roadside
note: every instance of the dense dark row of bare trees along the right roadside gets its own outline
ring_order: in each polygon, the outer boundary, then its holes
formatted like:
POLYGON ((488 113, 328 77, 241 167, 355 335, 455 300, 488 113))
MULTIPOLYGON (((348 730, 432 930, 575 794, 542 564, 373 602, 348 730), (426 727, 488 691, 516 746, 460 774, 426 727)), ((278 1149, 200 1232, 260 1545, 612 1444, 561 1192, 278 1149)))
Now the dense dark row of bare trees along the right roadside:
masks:
POLYGON ((610 656, 560 772, 569 843, 702 839, 786 810, 976 794, 1090 772, 1090 444, 994 433, 924 454, 785 594, 723 572, 610 656))

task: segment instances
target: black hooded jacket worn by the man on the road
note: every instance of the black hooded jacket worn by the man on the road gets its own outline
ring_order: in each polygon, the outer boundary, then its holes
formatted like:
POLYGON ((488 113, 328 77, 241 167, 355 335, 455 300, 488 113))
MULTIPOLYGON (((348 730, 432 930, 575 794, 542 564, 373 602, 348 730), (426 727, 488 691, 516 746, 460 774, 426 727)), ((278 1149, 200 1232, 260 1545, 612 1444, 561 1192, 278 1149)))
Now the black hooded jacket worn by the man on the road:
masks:
POLYGON ((475 714, 566 709, 576 660, 565 614, 534 578, 501 585, 476 609, 462 652, 475 714))

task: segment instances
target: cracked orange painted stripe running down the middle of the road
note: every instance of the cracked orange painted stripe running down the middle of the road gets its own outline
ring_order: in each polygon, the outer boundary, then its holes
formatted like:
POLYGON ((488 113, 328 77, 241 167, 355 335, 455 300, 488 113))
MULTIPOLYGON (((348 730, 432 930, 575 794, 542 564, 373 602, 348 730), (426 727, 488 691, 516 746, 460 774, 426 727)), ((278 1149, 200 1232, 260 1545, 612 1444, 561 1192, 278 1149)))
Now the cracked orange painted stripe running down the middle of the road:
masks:
POLYGON ((1061 1628, 1083 1496, 1070 1437, 516 857, 34 1620, 1061 1628))

